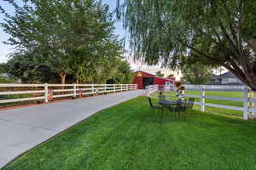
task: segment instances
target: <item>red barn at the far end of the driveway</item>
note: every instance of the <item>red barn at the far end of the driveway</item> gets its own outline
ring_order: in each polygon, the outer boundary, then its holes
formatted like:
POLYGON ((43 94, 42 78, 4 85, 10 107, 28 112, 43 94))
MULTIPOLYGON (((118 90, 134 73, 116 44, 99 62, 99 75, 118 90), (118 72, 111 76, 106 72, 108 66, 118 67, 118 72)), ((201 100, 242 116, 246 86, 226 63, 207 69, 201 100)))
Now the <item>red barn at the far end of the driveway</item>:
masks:
POLYGON ((133 83, 137 84, 138 89, 143 89, 148 85, 165 85, 166 82, 172 82, 172 84, 175 82, 174 78, 156 77, 145 71, 137 71, 135 74, 136 77, 134 78, 133 83))

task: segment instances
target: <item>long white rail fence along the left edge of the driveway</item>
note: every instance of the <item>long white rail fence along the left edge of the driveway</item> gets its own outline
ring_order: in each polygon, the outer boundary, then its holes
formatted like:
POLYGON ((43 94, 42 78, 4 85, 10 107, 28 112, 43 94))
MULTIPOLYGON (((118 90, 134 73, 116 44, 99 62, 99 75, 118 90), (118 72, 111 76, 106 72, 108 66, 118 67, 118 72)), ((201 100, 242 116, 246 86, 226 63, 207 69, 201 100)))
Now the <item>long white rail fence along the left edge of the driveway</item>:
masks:
POLYGON ((73 97, 86 94, 108 94, 137 90, 137 84, 0 84, 0 96, 15 94, 32 94, 36 97, 18 99, 0 99, 0 104, 43 99, 49 102, 51 99, 73 97), (18 88, 18 90, 13 90, 18 88), (20 89, 25 90, 20 90, 20 89), (27 90, 27 88, 32 88, 27 90))

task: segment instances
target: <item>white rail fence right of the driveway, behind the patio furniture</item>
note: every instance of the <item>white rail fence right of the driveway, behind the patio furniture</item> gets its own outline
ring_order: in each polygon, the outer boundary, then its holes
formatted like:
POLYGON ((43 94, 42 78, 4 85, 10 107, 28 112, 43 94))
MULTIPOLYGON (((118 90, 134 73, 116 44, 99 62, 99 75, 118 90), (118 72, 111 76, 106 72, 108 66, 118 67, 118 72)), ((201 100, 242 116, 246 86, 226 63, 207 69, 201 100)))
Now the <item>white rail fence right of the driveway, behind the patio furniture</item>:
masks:
MULTIPOLYGON (((152 85, 147 88, 147 94, 150 96, 159 90, 157 85, 152 85)), ((200 91, 200 95, 191 95, 185 94, 185 97, 197 98, 201 99, 200 102, 195 102, 195 105, 201 106, 201 111, 205 111, 205 106, 221 108, 221 109, 228 109, 228 110, 235 110, 235 111, 243 111, 243 119, 248 120, 249 118, 256 117, 256 92, 250 90, 247 87, 244 88, 186 88, 186 91, 200 91), (216 96, 207 96, 205 94, 206 91, 211 92, 242 92, 243 98, 229 98, 229 97, 216 97, 216 96), (250 94, 250 95, 249 95, 250 94), (206 103, 205 99, 219 99, 219 100, 228 100, 228 101, 240 101, 243 103, 243 107, 238 106, 231 106, 231 105, 217 105, 212 103, 206 103)))

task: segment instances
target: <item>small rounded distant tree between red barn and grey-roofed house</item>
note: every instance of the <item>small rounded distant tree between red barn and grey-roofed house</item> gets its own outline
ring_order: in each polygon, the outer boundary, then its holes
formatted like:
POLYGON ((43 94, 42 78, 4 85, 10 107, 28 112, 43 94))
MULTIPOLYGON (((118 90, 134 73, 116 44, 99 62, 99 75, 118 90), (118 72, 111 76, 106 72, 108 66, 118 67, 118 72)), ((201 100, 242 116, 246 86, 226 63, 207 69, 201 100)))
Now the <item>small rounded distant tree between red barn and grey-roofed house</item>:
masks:
POLYGON ((194 63, 183 65, 181 67, 181 73, 183 74, 182 82, 189 82, 190 84, 205 84, 210 82, 212 77, 212 68, 208 65, 194 63))

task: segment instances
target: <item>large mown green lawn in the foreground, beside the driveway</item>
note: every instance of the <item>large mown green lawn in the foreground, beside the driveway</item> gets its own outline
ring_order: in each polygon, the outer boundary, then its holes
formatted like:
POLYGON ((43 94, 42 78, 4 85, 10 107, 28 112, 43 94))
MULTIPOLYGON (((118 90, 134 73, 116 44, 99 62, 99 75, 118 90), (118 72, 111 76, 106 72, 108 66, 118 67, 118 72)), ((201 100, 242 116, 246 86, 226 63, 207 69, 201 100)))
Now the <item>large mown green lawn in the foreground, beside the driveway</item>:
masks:
POLYGON ((5 169, 256 169, 256 123, 150 113, 143 97, 98 112, 5 169))

